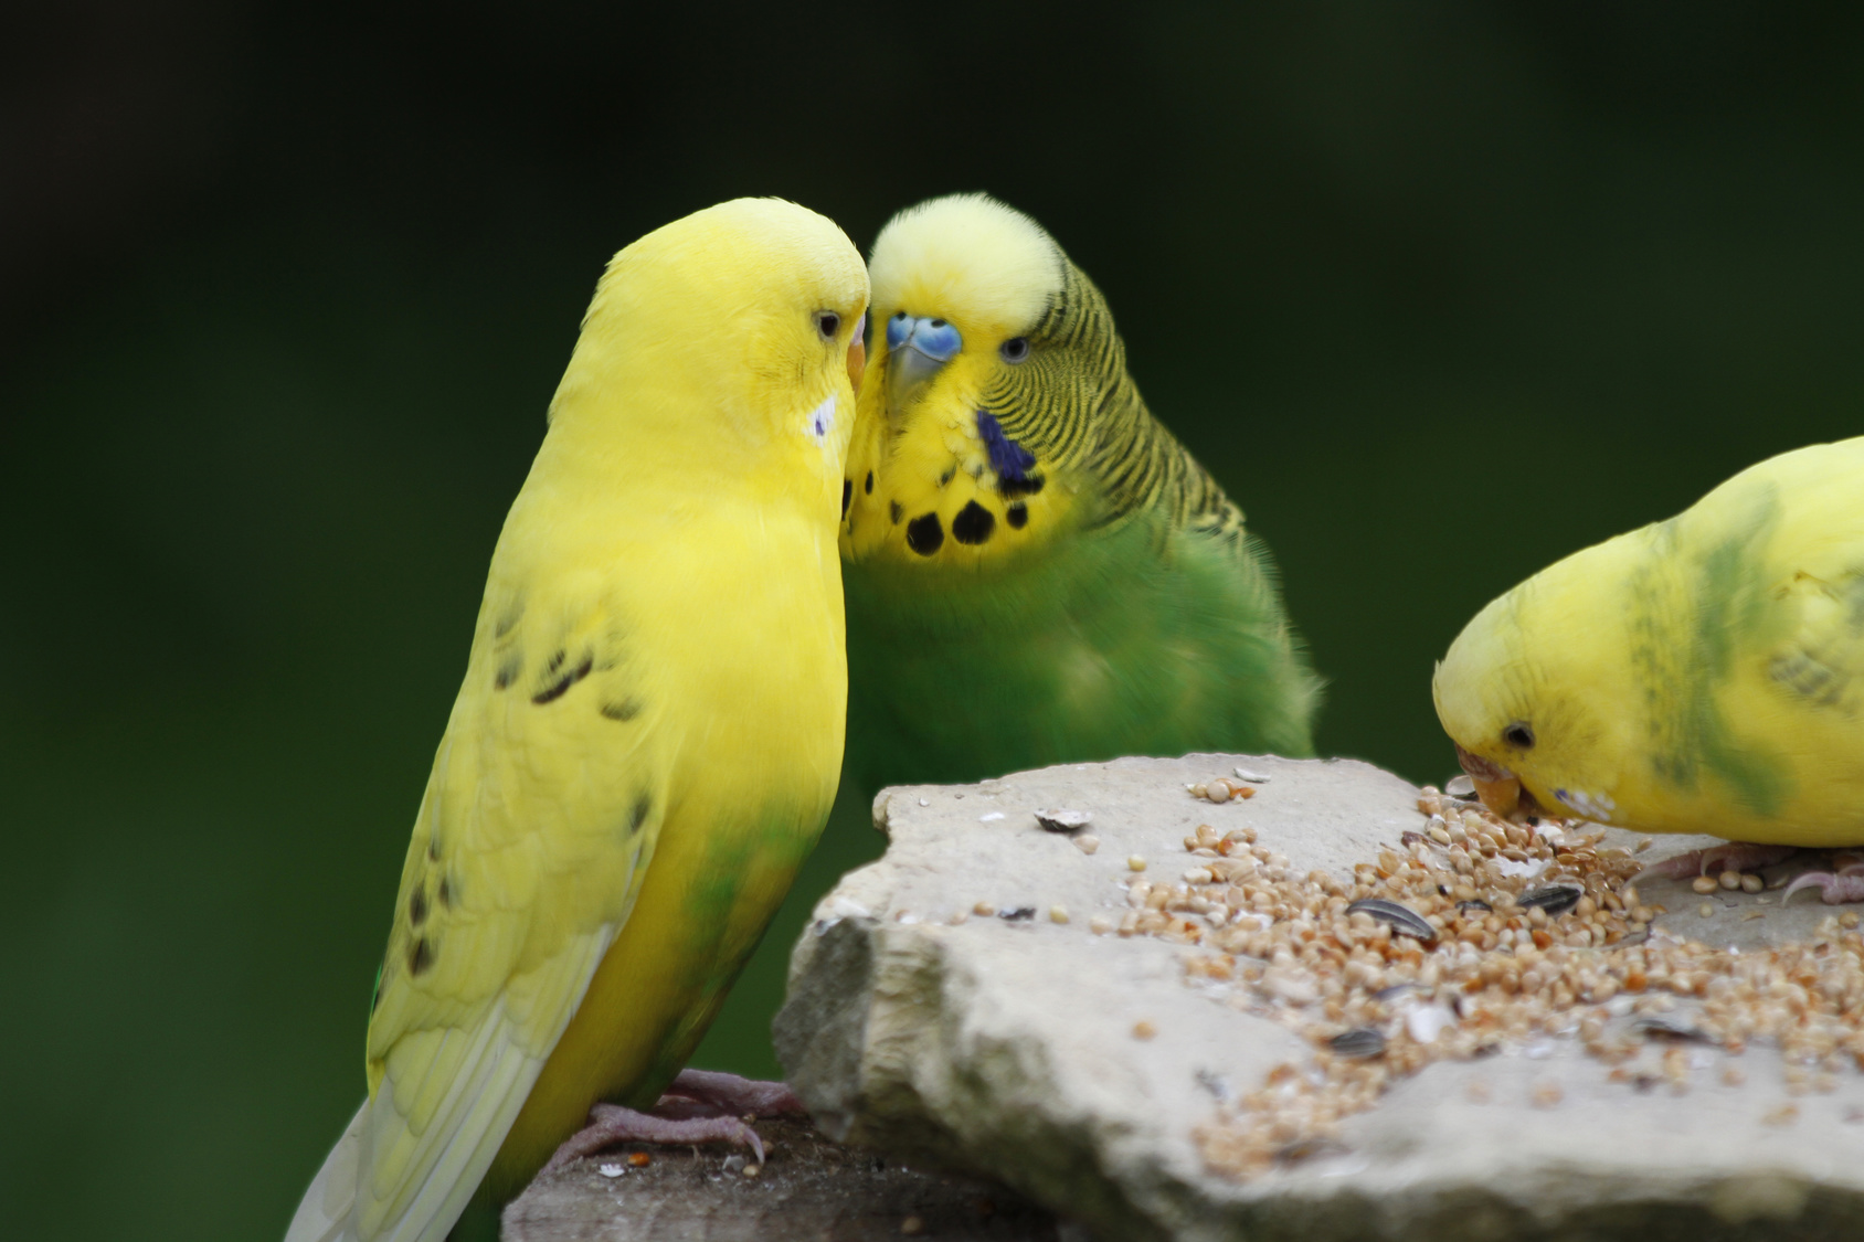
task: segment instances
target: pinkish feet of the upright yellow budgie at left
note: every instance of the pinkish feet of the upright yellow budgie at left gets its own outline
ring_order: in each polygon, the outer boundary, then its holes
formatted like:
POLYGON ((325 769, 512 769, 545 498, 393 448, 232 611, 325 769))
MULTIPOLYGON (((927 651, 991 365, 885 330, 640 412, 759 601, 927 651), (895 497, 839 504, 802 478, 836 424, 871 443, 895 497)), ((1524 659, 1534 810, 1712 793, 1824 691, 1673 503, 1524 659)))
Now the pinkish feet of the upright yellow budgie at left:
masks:
POLYGON ((714 1070, 680 1070, 654 1111, 596 1104, 589 1125, 557 1147, 544 1171, 559 1169, 615 1143, 736 1143, 764 1162, 755 1117, 802 1113, 803 1102, 781 1082, 753 1082, 714 1070))

